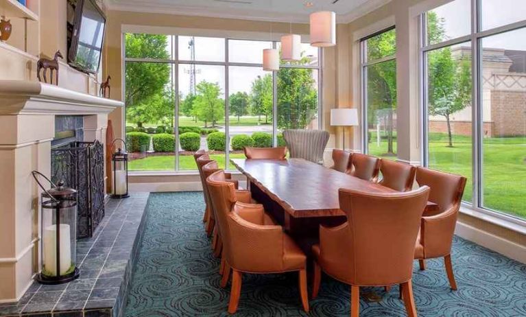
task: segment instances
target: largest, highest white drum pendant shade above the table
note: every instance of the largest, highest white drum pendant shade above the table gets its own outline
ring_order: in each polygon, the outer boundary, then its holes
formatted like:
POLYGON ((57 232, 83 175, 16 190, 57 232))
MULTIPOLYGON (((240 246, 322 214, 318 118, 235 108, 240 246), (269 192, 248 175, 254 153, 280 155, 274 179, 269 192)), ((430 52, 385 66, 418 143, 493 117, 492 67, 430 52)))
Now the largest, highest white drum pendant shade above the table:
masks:
POLYGON ((328 47, 336 45, 336 13, 320 11, 311 14, 311 45, 328 47))

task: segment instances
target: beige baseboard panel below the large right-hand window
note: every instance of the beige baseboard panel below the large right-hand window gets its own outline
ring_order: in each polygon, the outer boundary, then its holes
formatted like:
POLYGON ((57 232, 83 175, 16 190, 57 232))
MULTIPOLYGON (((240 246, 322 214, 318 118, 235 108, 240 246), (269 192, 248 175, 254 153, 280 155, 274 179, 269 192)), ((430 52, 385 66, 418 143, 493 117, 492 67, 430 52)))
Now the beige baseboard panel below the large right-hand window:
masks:
POLYGON ((521 246, 509 240, 481 231, 474 226, 457 222, 455 234, 485 248, 493 250, 510 259, 526 264, 526 246, 521 246))

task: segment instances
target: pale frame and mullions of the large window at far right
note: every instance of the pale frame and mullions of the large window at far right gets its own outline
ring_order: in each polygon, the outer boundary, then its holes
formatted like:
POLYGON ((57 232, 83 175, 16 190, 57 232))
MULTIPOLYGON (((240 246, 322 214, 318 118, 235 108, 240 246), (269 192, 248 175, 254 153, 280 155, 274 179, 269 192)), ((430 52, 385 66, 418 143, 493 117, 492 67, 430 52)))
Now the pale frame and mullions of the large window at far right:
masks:
MULTIPOLYGON (((455 0, 449 1, 453 2, 455 0)), ((448 2, 448 3, 449 3, 448 2)), ((442 5, 447 4, 443 3, 442 5)), ((481 0, 470 1, 470 13, 471 13, 471 30, 470 34, 466 36, 459 36, 457 38, 450 38, 442 43, 435 43, 427 45, 427 12, 433 9, 429 9, 420 14, 418 23, 419 34, 419 62, 420 62, 420 111, 422 112, 421 135, 422 135, 422 165, 425 167, 429 166, 429 123, 428 117, 429 112, 427 109, 427 93, 428 93, 428 73, 427 73, 427 53, 434 51, 435 49, 441 49, 444 47, 451 47, 452 45, 458 45, 469 42, 471 46, 471 80, 472 80, 472 179, 473 191, 472 202, 462 202, 463 207, 472 209, 477 213, 481 213, 482 216, 489 216, 491 218, 497 218, 504 222, 511 222, 512 224, 518 224, 519 226, 526 226, 526 219, 520 218, 512 213, 506 211, 499 211, 483 207, 483 89, 481 87, 482 78, 481 74, 483 71, 483 63, 481 61, 482 56, 482 45, 483 38, 494 36, 498 34, 504 34, 514 30, 519 30, 526 27, 526 19, 510 23, 507 25, 501 25, 488 30, 482 30, 481 27, 481 0)))

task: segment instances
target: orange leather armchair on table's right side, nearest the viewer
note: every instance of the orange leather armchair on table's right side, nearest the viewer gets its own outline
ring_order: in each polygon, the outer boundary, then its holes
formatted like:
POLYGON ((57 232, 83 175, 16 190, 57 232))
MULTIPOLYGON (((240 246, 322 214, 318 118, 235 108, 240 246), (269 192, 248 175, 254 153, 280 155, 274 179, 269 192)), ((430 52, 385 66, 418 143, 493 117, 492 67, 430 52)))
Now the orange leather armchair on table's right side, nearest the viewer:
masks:
POLYGON ((464 176, 439 172, 418 167, 418 185, 431 187, 429 201, 438 204, 435 214, 424 214, 420 233, 416 240, 415 259, 419 260, 420 270, 425 270, 425 260, 444 257, 446 273, 452 290, 457 290, 453 266, 451 265, 451 244, 457 224, 457 215, 466 187, 464 176))

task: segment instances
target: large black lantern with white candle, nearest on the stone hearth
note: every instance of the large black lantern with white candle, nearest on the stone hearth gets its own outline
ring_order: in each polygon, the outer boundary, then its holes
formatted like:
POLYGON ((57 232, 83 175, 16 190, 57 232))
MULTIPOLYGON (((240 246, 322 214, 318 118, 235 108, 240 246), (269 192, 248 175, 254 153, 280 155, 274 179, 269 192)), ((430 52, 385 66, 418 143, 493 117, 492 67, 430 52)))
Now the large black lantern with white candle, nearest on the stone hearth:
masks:
POLYGON ((61 284, 77 279, 77 191, 64 187, 61 180, 55 185, 40 172, 33 171, 36 183, 43 189, 40 237, 40 261, 42 271, 36 280, 43 284, 61 284), (41 176, 52 188, 38 180, 41 176))

